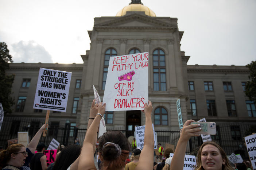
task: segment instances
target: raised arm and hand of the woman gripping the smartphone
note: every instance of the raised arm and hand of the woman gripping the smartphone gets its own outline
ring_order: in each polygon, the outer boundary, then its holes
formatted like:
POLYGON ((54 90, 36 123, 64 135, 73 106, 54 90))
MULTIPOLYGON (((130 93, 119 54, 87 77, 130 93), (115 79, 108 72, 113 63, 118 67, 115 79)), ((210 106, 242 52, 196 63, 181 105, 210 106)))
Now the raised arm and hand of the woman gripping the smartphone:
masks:
POLYGON ((171 170, 183 170, 184 157, 186 153, 187 141, 191 136, 200 136, 197 132, 201 128, 197 128, 198 124, 190 125, 193 120, 187 120, 181 130, 181 137, 179 138, 177 147, 171 160, 171 170))

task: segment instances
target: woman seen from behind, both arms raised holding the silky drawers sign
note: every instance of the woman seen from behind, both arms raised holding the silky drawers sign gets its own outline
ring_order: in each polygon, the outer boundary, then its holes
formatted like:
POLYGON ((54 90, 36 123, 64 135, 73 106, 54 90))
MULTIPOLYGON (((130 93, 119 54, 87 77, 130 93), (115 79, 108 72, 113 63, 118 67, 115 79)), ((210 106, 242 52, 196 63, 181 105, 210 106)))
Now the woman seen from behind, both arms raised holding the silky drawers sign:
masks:
MULTIPOLYGON (((154 160, 154 134, 151 121, 152 104, 145 103, 146 129, 144 147, 140 154, 135 170, 149 170, 153 167, 154 160)), ((100 102, 97 114, 86 132, 81 155, 78 161, 78 170, 96 170, 94 165, 94 151, 96 146, 97 129, 105 113, 105 103, 100 102)), ((99 153, 102 161, 101 170, 124 170, 125 159, 128 157, 131 146, 120 131, 107 131, 99 139, 99 153)))

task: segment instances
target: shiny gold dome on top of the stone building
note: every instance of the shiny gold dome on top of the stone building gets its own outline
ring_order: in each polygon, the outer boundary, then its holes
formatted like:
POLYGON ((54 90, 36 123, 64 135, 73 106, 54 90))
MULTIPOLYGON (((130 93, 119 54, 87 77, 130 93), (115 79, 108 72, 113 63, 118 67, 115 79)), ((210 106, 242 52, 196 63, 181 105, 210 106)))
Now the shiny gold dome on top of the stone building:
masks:
POLYGON ((145 14, 148 16, 156 16, 151 9, 142 4, 130 4, 128 6, 125 6, 123 9, 117 12, 116 16, 124 16, 127 11, 144 11, 145 14))

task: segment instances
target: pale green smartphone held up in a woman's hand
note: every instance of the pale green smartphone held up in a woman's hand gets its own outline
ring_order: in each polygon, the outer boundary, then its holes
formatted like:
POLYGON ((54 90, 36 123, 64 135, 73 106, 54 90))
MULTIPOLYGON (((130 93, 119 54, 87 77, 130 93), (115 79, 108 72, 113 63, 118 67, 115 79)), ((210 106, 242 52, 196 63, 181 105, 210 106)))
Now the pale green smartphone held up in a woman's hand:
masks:
POLYGON ((191 124, 200 124, 198 128, 202 128, 198 131, 199 134, 211 134, 216 135, 216 123, 215 122, 192 122, 191 124))

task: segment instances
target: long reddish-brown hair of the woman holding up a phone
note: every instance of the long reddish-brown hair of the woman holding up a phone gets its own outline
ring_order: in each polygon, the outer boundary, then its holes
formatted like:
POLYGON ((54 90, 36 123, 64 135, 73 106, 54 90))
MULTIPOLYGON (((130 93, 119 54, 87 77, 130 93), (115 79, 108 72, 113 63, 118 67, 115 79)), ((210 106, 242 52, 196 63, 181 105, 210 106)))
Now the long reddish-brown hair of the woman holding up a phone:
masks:
POLYGON ((206 145, 213 145, 219 149, 222 159, 225 159, 225 164, 222 165, 222 170, 233 170, 233 168, 229 164, 229 160, 228 160, 228 157, 227 157, 225 151, 222 149, 222 147, 220 145, 218 145, 217 143, 212 142, 212 141, 204 142, 200 146, 198 153, 197 153, 197 167, 195 167, 195 170, 204 170, 203 166, 202 166, 201 155, 202 155, 202 149, 206 145))

